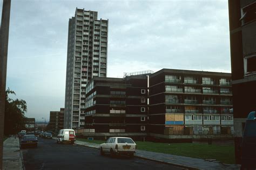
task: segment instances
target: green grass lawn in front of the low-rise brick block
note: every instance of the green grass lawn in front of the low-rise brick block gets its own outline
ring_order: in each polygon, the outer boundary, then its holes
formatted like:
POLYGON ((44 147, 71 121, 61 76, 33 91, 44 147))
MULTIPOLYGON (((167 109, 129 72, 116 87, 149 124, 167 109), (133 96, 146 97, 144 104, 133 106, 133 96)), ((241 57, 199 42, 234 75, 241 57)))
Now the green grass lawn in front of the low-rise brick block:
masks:
MULTIPOLYGON (((102 144, 103 140, 87 140, 77 139, 81 141, 102 144)), ((201 159, 216 159, 225 164, 235 164, 234 161, 234 145, 208 145, 208 144, 167 144, 156 142, 142 142, 136 141, 138 149, 143 151, 168 153, 174 155, 181 155, 185 157, 201 158, 201 159)))

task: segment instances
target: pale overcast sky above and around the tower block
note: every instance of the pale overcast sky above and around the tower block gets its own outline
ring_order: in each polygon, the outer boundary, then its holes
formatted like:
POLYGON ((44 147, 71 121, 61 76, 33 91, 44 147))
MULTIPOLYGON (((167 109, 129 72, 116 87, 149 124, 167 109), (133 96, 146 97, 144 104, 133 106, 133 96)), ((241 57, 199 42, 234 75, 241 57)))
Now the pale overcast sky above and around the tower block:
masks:
POLYGON ((27 102, 26 117, 48 121, 50 111, 64 107, 68 22, 76 7, 109 19, 107 77, 163 68, 231 72, 225 0, 12 0, 6 87, 27 102))

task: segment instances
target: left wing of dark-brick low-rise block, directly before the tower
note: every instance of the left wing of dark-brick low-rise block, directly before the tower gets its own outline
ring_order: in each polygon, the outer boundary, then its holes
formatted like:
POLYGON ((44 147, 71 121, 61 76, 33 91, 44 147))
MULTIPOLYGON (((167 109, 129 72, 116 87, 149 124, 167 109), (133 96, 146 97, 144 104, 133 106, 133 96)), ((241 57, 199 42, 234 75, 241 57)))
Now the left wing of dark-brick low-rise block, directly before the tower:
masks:
POLYGON ((87 136, 122 135, 146 137, 147 77, 95 77, 86 86, 85 129, 87 136))

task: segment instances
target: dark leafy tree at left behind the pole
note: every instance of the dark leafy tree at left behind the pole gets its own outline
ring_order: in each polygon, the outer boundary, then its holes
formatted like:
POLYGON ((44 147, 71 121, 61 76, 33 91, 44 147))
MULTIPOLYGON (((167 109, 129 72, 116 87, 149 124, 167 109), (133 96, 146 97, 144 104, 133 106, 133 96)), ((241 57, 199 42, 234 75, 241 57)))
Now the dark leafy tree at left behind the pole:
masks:
POLYGON ((17 134, 25 127, 26 101, 22 99, 11 99, 9 94, 16 93, 8 89, 5 91, 5 113, 4 113, 4 134, 17 134))

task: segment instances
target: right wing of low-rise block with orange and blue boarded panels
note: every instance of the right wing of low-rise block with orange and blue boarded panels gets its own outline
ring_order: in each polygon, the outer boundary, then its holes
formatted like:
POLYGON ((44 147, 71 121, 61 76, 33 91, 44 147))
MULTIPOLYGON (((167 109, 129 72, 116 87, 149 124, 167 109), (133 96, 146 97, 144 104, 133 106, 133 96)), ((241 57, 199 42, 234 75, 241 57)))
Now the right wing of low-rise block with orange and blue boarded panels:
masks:
POLYGON ((233 131, 231 74, 162 69, 149 76, 149 132, 205 138, 233 131))

